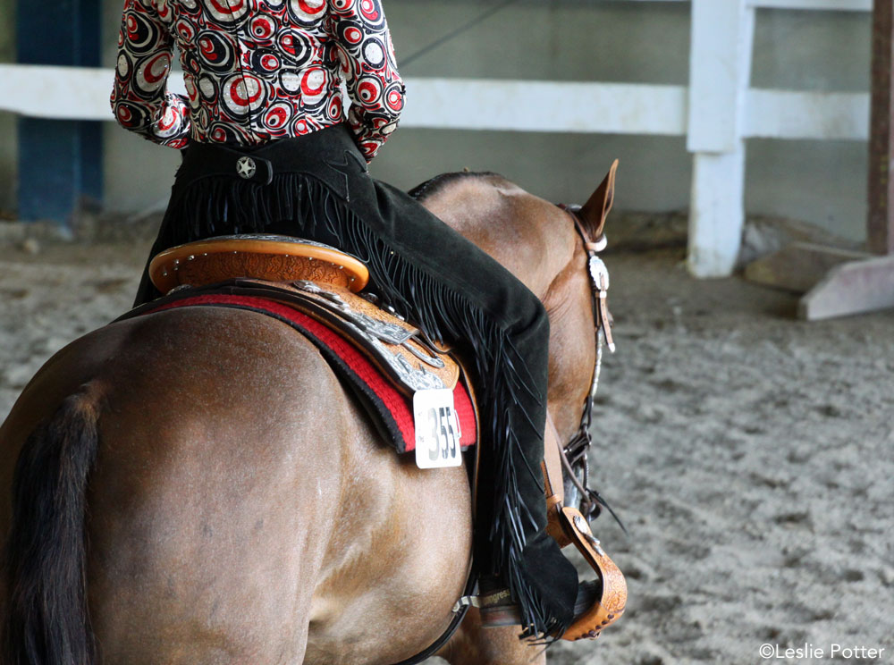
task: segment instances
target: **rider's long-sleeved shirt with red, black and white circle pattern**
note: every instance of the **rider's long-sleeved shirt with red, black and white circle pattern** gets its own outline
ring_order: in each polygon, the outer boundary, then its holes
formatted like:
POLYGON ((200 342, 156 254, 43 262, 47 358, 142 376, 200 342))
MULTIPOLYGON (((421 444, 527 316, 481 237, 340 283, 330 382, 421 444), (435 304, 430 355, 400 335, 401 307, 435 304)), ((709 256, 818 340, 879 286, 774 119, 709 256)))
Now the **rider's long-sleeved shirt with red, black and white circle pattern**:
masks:
POLYGON ((112 108, 164 146, 253 146, 347 120, 367 161, 404 102, 379 0, 126 0, 112 108), (167 91, 173 47, 187 95, 167 91))

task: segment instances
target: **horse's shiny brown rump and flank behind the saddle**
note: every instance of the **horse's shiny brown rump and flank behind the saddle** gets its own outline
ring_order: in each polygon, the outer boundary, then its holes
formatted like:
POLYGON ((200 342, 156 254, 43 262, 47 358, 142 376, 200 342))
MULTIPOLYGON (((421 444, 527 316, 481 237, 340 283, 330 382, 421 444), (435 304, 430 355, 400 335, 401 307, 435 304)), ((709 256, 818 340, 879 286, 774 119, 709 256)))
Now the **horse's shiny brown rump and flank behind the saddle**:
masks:
MULTIPOLYGON (((24 412, 40 395, 104 386, 85 568, 104 662, 301 661, 311 632, 308 661, 346 637, 359 660, 394 629, 376 610, 390 604, 417 651, 443 630, 464 582, 449 562, 468 557, 464 471, 428 484, 420 505, 431 476, 395 459, 287 326, 219 307, 160 312, 91 333, 47 367, 13 408, 3 452, 17 455, 16 433, 42 419, 24 412), (439 523, 432 509, 446 505, 439 523), (417 537, 446 560, 417 560, 417 537), (443 616, 414 613, 414 588, 443 616)), ((412 655, 394 649, 394 661, 412 655)))

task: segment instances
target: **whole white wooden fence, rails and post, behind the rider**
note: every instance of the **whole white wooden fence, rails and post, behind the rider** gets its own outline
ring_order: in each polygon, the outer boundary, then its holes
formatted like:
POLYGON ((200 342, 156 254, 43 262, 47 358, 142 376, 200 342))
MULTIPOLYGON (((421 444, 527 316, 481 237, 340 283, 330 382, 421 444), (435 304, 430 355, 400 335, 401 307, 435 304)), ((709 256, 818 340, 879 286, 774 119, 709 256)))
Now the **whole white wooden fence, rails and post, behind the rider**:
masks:
MULTIPOLYGON (((628 0, 633 2, 635 0, 628 0)), ((749 88, 755 10, 856 11, 872 0, 666 0, 692 4, 690 87, 408 79, 405 127, 687 136, 693 153, 689 268, 730 274, 744 222, 745 139, 869 136, 869 94, 749 88), (531 100, 541 100, 532 102, 531 100), (561 100, 551 103, 549 100, 561 100)), ((112 120, 112 69, 0 65, 0 110, 112 120)), ((176 78, 176 77, 174 77, 176 78)), ((177 89, 172 82, 172 88, 177 89)))

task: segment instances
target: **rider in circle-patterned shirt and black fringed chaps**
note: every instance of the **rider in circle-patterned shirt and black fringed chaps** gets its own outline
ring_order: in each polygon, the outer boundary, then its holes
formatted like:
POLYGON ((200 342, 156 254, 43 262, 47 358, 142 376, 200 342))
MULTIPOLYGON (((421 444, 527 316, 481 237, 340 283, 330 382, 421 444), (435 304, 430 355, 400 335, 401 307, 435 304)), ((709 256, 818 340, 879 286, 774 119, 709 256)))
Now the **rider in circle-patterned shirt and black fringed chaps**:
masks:
MULTIPOLYGON (((467 344, 490 424, 481 486, 493 487, 477 567, 509 587, 527 635, 561 634, 578 577, 544 531, 549 322, 502 265, 369 177, 405 94, 379 0, 126 0, 118 46, 115 118, 182 156, 150 257, 242 232, 325 242, 363 260, 434 339, 467 344), (185 97, 166 89, 174 46, 185 97)), ((144 271, 137 304, 158 295, 144 271)))

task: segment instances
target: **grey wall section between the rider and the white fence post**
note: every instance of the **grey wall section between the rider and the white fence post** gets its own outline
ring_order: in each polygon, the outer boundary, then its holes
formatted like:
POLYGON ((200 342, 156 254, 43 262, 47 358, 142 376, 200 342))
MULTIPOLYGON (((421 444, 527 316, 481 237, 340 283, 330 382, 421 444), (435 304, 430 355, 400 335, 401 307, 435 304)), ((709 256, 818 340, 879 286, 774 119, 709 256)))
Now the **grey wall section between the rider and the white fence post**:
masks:
MULTIPOLYGON (((385 6, 399 63, 482 11, 480 3, 456 0, 390 0, 385 6)), ((401 72, 686 85, 688 24, 686 3, 519 2, 401 72)), ((688 205, 685 146, 685 139, 668 138, 401 130, 376 159, 374 173, 408 187, 420 173, 468 166, 503 173, 544 198, 580 202, 617 156, 617 205, 669 210, 688 205), (658 160, 661 173, 654 168, 658 160)))

